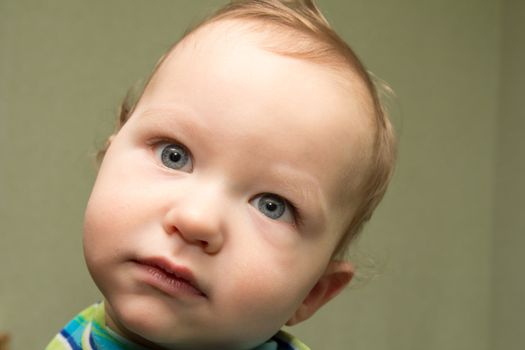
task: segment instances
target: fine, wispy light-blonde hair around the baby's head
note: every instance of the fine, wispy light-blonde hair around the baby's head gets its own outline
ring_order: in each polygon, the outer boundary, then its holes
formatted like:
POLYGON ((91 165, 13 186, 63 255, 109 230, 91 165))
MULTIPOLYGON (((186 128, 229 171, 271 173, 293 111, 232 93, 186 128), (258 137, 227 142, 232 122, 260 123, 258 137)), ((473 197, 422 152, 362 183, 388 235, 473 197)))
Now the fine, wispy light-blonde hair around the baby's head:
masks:
MULTIPOLYGON (((371 218, 373 211, 383 198, 392 177, 396 155, 396 140, 392 124, 381 104, 379 90, 389 91, 386 84, 374 83, 372 75, 366 70, 348 44, 332 29, 317 5, 312 0, 237 0, 231 1, 205 20, 190 28, 170 50, 164 54, 145 86, 134 93, 128 91, 120 110, 117 131, 126 123, 158 67, 169 52, 184 38, 201 28, 219 21, 240 20, 262 34, 263 48, 272 52, 304 59, 333 68, 339 72, 351 72, 365 86, 372 101, 375 117, 372 159, 362 182, 362 200, 338 243, 334 257, 345 255, 350 242, 371 218), (271 34, 271 35, 264 35, 271 34), (137 98, 138 97, 138 98, 137 98)), ((108 144, 98 154, 101 160, 108 144)))

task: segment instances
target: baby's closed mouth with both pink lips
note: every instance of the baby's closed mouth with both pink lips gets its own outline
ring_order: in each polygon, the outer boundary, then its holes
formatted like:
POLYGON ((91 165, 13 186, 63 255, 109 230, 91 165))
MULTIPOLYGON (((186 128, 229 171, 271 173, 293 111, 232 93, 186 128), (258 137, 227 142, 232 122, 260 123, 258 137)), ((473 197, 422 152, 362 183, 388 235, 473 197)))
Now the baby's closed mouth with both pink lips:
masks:
POLYGON ((193 273, 186 267, 176 265, 165 258, 148 258, 133 262, 147 272, 148 284, 171 297, 190 295, 207 298, 193 273))

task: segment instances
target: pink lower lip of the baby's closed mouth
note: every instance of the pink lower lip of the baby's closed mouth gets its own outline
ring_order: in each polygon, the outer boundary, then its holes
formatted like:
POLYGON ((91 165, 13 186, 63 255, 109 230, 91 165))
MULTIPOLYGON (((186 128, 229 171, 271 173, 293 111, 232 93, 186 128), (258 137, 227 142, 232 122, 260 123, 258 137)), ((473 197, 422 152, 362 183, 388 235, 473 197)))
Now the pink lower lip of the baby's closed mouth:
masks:
POLYGON ((204 293, 192 286, 186 280, 178 278, 166 271, 150 265, 136 263, 143 272, 143 280, 146 284, 160 290, 171 297, 206 297, 204 293))

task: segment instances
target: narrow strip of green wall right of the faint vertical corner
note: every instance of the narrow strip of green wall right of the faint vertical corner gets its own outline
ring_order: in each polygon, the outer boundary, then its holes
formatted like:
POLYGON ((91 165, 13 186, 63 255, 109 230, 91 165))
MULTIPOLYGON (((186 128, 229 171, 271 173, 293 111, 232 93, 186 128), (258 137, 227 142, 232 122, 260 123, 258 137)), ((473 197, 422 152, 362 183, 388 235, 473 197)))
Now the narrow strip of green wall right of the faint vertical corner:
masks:
POLYGON ((493 349, 525 347, 525 3, 503 7, 500 113, 495 163, 493 349))

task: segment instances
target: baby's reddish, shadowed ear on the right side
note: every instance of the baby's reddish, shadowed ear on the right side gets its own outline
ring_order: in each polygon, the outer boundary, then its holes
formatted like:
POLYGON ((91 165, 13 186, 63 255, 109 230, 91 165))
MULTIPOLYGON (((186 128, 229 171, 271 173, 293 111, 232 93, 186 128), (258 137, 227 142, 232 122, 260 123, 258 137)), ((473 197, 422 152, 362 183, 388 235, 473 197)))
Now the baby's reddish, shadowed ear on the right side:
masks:
POLYGON ((332 260, 319 281, 303 300, 287 326, 293 326, 310 318, 321 306, 341 292, 352 280, 354 267, 346 261, 332 260))

